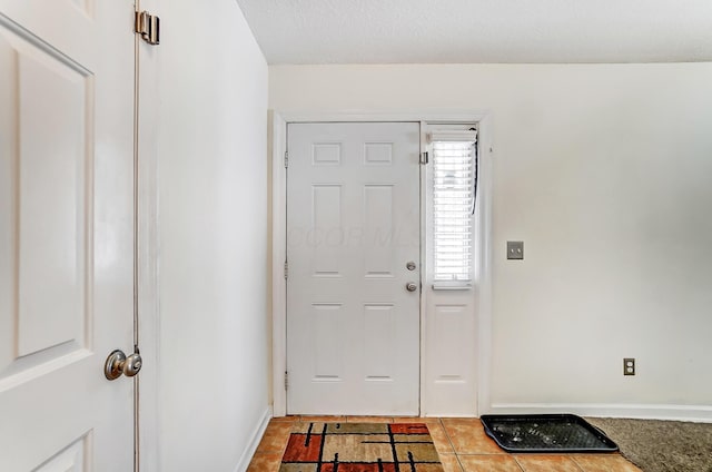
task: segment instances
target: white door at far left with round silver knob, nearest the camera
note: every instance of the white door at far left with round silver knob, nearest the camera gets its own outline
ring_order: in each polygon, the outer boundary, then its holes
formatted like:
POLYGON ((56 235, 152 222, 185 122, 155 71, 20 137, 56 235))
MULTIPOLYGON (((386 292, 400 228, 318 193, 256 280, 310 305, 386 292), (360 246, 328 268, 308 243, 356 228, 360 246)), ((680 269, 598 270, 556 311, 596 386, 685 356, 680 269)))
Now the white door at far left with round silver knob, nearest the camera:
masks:
POLYGON ((0 0, 0 470, 126 472, 134 4, 0 0))

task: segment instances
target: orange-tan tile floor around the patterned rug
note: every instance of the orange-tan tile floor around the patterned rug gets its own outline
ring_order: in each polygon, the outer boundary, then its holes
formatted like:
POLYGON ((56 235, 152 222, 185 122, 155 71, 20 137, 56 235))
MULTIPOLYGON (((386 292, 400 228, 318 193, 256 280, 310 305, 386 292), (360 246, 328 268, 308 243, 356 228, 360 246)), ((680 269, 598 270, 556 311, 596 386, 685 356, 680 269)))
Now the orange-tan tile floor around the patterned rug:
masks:
POLYGON ((477 419, 287 416, 269 422, 248 472, 277 472, 294 422, 426 423, 445 472, 641 472, 620 454, 508 454, 477 419))

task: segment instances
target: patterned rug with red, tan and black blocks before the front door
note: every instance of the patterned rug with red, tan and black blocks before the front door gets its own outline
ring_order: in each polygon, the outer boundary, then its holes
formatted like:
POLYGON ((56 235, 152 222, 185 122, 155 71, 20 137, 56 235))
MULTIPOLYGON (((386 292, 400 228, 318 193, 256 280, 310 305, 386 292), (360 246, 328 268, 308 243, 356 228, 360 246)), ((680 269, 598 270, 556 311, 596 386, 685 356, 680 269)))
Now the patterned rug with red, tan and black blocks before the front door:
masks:
POLYGON ((423 423, 297 423, 279 472, 443 472, 423 423))

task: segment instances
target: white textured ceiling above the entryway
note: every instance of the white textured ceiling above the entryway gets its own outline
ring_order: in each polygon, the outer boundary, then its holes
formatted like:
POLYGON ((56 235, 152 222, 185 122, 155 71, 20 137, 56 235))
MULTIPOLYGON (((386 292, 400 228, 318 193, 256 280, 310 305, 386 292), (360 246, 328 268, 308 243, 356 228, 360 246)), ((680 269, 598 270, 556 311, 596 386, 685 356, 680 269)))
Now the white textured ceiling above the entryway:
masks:
POLYGON ((712 61, 712 0, 237 0, 269 63, 712 61))

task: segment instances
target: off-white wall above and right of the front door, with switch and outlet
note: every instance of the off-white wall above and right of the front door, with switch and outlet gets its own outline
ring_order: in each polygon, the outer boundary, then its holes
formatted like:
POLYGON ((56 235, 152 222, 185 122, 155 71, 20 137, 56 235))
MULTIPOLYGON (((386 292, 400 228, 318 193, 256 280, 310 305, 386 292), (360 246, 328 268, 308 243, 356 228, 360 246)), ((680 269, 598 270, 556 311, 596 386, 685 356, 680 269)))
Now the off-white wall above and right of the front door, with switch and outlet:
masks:
POLYGON ((269 107, 491 112, 488 409, 712 421, 710 83, 712 63, 275 66, 269 107))

